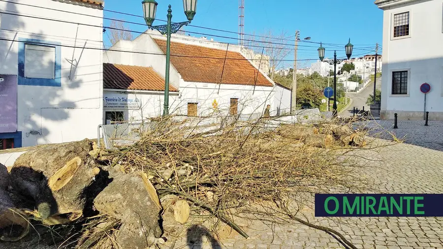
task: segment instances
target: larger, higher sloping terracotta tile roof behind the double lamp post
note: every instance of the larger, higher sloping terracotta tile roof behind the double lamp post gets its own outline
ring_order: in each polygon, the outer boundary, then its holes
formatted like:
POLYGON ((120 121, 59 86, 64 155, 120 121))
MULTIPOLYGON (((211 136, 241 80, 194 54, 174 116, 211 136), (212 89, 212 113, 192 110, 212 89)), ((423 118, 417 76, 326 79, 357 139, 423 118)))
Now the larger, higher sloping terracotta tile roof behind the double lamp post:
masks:
MULTIPOLYGON (((163 53, 166 41, 154 39, 163 53)), ((257 69, 240 53, 171 42, 171 63, 188 82, 254 85, 257 69), (224 58, 227 58, 224 65, 224 58), (223 72, 223 75, 221 76, 223 72)), ((272 87, 273 84, 261 73, 256 86, 272 87)))

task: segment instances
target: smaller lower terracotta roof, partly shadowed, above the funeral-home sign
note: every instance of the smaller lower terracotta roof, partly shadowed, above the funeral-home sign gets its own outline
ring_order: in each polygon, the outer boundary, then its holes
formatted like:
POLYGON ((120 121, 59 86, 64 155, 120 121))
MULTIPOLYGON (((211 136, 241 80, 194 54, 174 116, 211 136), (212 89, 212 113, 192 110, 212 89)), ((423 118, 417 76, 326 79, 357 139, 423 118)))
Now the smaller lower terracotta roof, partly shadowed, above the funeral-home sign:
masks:
MULTIPOLYGON (((152 67, 103 63, 103 88, 164 91, 164 78, 152 67)), ((177 89, 169 85, 169 91, 177 89)))

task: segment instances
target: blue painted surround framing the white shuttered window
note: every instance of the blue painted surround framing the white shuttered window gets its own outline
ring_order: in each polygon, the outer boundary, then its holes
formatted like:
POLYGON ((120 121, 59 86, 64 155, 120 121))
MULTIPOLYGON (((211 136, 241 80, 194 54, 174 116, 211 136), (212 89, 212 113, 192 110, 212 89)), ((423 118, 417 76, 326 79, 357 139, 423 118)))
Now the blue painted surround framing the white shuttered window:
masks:
POLYGON ((62 86, 62 43, 37 39, 19 38, 18 44, 18 85, 25 86, 62 86), (55 47, 55 79, 25 78, 25 44, 55 47))

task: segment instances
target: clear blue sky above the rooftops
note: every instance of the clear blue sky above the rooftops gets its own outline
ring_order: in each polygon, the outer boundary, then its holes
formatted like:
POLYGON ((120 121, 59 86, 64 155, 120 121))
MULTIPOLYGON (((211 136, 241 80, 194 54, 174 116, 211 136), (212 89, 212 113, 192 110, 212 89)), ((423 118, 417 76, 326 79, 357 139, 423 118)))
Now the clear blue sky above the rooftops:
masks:
MULTIPOLYGON (((157 0, 157 19, 166 20, 167 5, 172 5, 173 22, 186 21, 183 12, 183 0, 157 0)), ((106 10, 143 15, 141 0, 106 0, 106 10)), ((139 17, 122 15, 105 11, 105 17, 124 21, 144 23, 139 17)), ((266 31, 287 33, 293 36, 295 30, 300 30, 300 38, 310 36, 311 41, 340 44, 326 47, 326 57, 332 57, 333 49, 337 49, 338 57, 345 56, 344 45, 348 38, 354 44, 353 55, 371 53, 382 38, 382 10, 377 8, 374 0, 245 0, 245 33, 264 34, 266 31)), ((164 22, 156 21, 154 25, 164 22)), ((105 26, 109 21, 105 20, 105 26)), ((132 31, 144 31, 141 25, 126 24, 132 31)), ((197 14, 192 25, 238 31, 238 0, 198 0, 197 14)), ((208 35, 191 34, 192 36, 207 36, 216 41, 237 43, 237 34, 212 31, 195 27, 187 27, 187 31, 205 33, 208 35), (235 39, 215 37, 211 35, 228 36, 235 39)), ((138 34, 134 34, 138 35, 138 34)), ((107 37, 105 37, 105 43, 107 37)), ((293 39, 293 37, 291 37, 293 39)), ((107 42, 109 44, 109 42, 107 42)), ((317 59, 315 43, 299 43, 298 59, 317 59), (302 47, 302 45, 313 47, 302 47)), ((379 50, 379 53, 381 49, 379 50)), ((374 52, 372 52, 374 53, 374 52)), ((293 53, 286 59, 292 60, 293 53)), ((288 63, 288 66, 290 62, 288 63)), ((308 62, 302 62, 308 65, 308 62)))

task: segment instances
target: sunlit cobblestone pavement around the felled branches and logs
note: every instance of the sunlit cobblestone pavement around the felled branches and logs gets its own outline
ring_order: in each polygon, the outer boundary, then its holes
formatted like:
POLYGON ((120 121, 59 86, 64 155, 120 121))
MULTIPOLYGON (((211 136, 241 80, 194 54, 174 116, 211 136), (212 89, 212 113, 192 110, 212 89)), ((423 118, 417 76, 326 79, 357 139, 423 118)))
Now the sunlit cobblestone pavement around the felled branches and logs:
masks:
MULTIPOLYGON (((389 122, 381 122, 390 129, 389 122)), ((443 123, 402 122, 397 134, 412 134, 408 143, 380 149, 380 154, 365 152, 377 161, 369 161, 363 174, 372 179, 374 188, 384 193, 443 193, 443 123), (431 123, 430 123, 431 124, 431 123), (428 129, 426 129, 428 128, 428 129), (433 130, 432 134, 429 128, 433 130), (423 137, 423 134, 425 136, 423 137), (423 141, 426 140, 426 141, 423 141), (418 145, 414 145, 418 144, 418 145), (423 146, 425 145, 425 148, 423 146), (433 145, 436 146, 433 148, 433 145), (381 158, 380 158, 381 155, 381 158)), ((443 248, 443 218, 314 218, 313 223, 326 225, 344 234, 357 248, 431 249, 443 248)), ((263 223, 248 226, 252 239, 232 235, 211 246, 205 243, 176 243, 178 248, 211 249, 335 249, 344 248, 331 235, 301 224, 276 226, 274 232, 263 223)))

